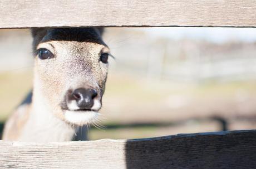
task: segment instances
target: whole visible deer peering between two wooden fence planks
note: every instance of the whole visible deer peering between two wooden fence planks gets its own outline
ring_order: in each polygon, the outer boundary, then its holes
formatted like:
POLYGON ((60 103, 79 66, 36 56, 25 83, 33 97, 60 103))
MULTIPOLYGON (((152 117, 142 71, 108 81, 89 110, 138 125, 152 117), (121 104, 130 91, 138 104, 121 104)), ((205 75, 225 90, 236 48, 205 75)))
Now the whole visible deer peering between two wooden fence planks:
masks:
POLYGON ((87 140, 87 125, 99 120, 112 56, 103 32, 31 29, 33 88, 4 125, 3 140, 87 140))

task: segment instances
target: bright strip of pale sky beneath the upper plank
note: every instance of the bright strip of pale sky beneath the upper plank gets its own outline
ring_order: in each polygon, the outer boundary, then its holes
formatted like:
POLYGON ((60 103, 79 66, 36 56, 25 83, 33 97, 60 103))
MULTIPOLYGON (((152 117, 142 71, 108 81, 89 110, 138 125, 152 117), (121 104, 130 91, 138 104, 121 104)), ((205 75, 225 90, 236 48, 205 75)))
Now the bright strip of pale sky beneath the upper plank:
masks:
POLYGON ((156 37, 203 39, 215 43, 224 43, 230 40, 256 41, 256 28, 163 27, 146 28, 144 31, 156 37))

